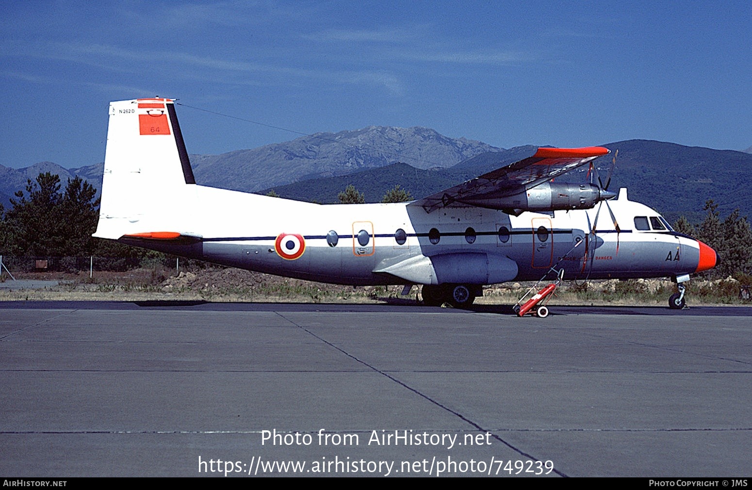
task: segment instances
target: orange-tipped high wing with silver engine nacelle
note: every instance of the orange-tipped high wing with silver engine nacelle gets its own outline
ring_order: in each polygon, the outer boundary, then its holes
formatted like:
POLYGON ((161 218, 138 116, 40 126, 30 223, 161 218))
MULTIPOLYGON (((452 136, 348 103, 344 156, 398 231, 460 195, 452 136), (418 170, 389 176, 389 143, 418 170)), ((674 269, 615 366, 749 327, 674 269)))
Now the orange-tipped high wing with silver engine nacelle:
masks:
POLYGON ((592 184, 550 180, 608 153, 608 148, 538 148, 535 155, 497 168, 458 186, 411 202, 430 213, 439 207, 478 206, 523 210, 583 209, 614 197, 592 184))

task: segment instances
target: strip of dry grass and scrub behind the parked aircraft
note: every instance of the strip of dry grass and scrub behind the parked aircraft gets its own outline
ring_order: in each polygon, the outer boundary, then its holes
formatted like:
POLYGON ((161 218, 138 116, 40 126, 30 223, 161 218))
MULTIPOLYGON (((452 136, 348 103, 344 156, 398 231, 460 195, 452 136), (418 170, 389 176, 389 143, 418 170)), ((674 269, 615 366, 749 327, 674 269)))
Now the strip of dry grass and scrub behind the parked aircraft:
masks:
MULTIPOLYGON (((0 301, 250 301, 286 303, 384 303, 417 301, 419 288, 408 296, 402 286, 337 286, 312 283, 242 271, 234 268, 197 268, 181 271, 161 265, 124 272, 35 272, 17 279, 57 280, 58 286, 44 289, 0 289, 0 301)), ((534 283, 506 283, 484 289, 476 304, 514 304, 534 283)), ((541 289, 544 284, 538 286, 541 289)), ((690 281, 690 304, 749 304, 738 299, 738 283, 690 281)), ((668 280, 608 280, 590 283, 562 283, 550 304, 666 305, 675 285, 668 280)))

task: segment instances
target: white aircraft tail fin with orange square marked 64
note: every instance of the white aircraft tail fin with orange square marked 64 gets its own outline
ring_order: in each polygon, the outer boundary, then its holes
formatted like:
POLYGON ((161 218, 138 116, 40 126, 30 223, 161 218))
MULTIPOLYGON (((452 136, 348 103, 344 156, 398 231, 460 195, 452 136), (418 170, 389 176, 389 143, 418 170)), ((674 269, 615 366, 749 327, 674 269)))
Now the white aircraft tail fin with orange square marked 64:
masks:
MULTIPOLYGON (((154 231, 165 216, 185 221, 193 170, 168 98, 110 103, 105 174, 96 237, 154 231)), ((161 228, 160 228, 161 229, 161 228)))

